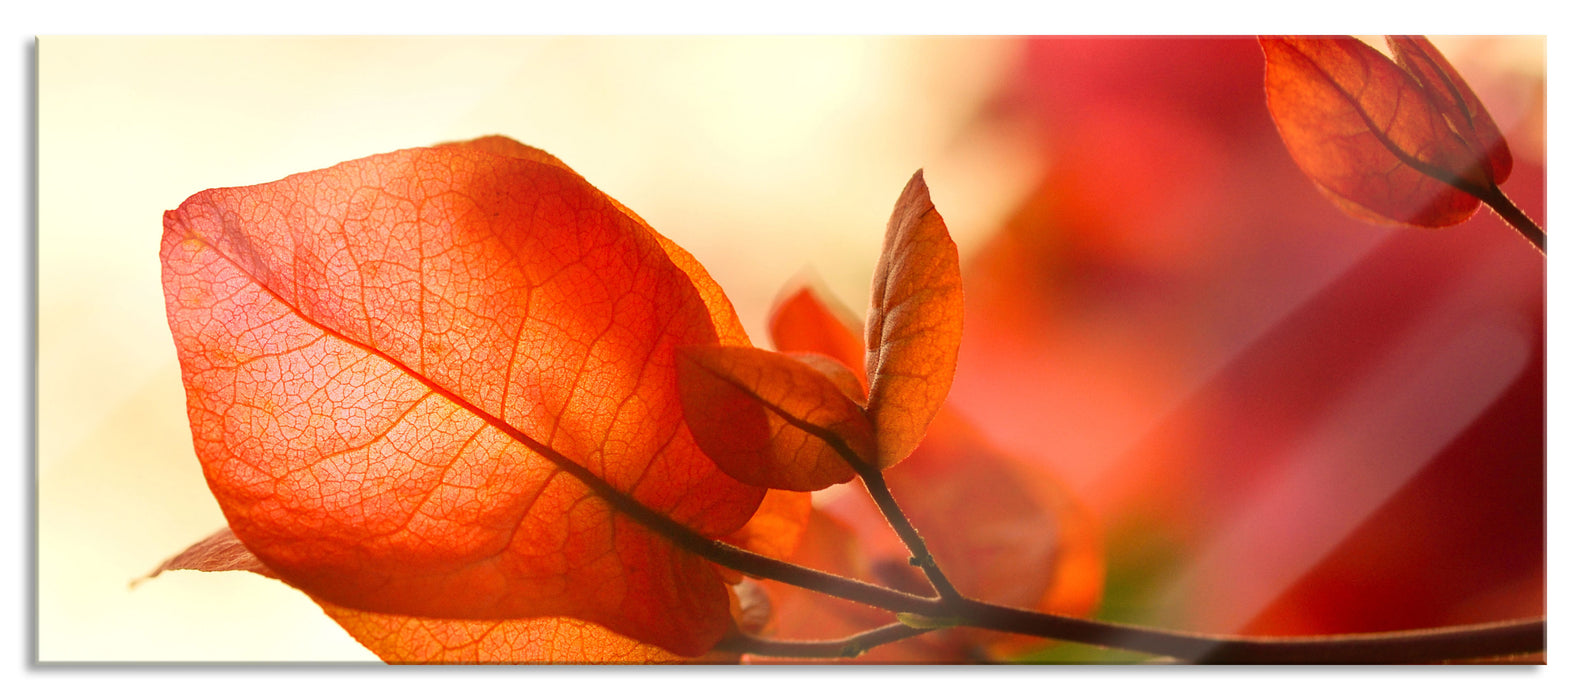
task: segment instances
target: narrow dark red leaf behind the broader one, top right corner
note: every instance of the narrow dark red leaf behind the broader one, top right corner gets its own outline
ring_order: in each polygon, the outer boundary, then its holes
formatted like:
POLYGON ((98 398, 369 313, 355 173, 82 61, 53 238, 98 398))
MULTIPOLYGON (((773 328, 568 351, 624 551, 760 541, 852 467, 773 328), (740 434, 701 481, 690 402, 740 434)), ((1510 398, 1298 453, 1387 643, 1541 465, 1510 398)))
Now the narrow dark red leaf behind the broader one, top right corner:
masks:
POLYGON ((1395 63, 1406 70, 1429 95, 1429 101, 1451 125, 1451 133, 1478 155, 1487 182, 1501 184, 1511 177, 1511 147, 1493 124, 1478 93, 1467 86, 1460 71, 1444 60, 1424 36, 1386 36, 1395 63))

